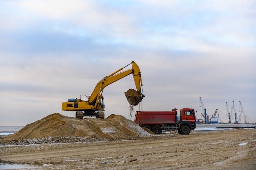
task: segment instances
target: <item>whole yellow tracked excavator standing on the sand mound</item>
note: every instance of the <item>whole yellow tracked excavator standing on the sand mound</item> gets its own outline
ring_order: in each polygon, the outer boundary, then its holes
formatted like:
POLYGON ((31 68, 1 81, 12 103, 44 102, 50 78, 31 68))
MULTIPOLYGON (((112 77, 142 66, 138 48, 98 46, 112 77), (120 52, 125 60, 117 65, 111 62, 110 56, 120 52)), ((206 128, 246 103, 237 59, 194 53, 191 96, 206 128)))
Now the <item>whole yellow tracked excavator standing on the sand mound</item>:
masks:
POLYGON ((99 81, 94 88, 94 91, 90 96, 88 97, 88 100, 84 101, 81 99, 68 99, 67 102, 62 103, 62 110, 66 111, 76 111, 76 118, 83 119, 84 116, 95 116, 97 118, 104 119, 105 113, 104 113, 104 102, 103 102, 103 89, 116 82, 119 79, 122 79, 130 74, 132 74, 135 86, 137 91, 134 89, 129 89, 125 92, 125 96, 129 102, 130 105, 136 106, 141 102, 143 99, 143 89, 142 89, 142 80, 141 80, 141 73, 139 70, 139 66, 132 61, 130 64, 125 66, 124 68, 120 68, 119 70, 115 71, 114 73, 104 77, 101 81, 99 81), (120 72, 127 66, 132 64, 132 68, 128 69, 126 71, 120 72), (142 90, 142 91, 141 91, 142 90))

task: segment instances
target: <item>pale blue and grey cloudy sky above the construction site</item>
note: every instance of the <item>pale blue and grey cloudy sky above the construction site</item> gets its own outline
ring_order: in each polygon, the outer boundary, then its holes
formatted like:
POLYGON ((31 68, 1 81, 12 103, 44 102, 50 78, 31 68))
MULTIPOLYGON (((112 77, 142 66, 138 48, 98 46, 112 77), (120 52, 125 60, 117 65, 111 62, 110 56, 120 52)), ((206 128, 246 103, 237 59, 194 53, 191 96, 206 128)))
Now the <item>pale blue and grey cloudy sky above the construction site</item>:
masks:
MULTIPOLYGON (((255 0, 1 0, 0 126, 74 117, 62 102, 132 61, 146 96, 134 110, 192 107, 204 119, 202 97, 228 122, 234 100, 256 122, 255 9, 255 0)), ((104 89, 105 117, 134 119, 129 88, 131 75, 104 89)))

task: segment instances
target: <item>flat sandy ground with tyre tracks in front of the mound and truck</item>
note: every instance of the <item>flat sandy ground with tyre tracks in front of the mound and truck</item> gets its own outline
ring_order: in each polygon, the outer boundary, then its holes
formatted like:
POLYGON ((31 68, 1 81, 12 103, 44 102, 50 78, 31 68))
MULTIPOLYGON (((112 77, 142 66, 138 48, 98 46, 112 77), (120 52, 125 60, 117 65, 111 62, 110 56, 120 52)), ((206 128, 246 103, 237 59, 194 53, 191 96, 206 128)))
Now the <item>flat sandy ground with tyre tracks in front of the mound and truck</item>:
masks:
MULTIPOLYGON (((133 140, 0 145, 8 163, 37 170, 255 170, 256 129, 177 132, 133 140), (36 163, 43 163, 40 166, 36 163)), ((1 166, 0 166, 1 169, 1 166)))

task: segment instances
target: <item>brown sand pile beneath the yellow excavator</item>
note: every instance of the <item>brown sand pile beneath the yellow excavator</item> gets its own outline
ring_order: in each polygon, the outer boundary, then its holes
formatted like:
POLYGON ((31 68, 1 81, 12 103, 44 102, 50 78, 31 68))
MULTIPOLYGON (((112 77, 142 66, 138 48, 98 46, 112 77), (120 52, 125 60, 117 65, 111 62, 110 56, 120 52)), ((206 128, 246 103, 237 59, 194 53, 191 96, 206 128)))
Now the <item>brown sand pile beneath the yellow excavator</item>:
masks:
MULTIPOLYGON (((121 115, 110 115, 106 119, 77 119, 54 113, 28 124, 3 141, 46 139, 49 137, 82 137, 95 140, 135 139, 151 134, 134 121, 121 115)), ((77 138, 76 138, 77 139, 77 138)))

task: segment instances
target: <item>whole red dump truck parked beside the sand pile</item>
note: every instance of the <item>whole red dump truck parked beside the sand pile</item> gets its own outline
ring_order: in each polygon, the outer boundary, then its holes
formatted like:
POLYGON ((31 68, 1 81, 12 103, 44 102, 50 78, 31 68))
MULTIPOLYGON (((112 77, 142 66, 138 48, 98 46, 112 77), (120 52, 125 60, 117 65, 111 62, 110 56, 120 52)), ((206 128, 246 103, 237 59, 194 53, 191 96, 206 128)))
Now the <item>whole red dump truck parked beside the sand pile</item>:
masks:
POLYGON ((181 135, 188 135, 196 128, 195 111, 193 108, 182 108, 177 114, 177 108, 172 111, 136 111, 135 123, 148 128, 155 134, 177 130, 181 135))

